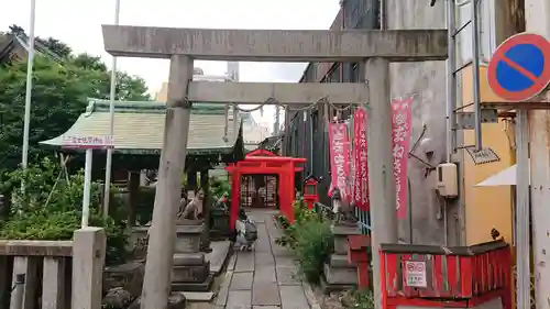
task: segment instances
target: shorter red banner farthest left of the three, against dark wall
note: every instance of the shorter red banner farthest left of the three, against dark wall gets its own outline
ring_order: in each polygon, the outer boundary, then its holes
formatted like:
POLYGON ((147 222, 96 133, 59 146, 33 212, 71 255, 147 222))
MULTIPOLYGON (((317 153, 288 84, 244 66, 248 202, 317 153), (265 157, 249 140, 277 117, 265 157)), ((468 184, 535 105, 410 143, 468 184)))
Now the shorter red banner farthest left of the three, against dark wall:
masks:
POLYGON ((329 123, 330 174, 329 195, 334 187, 340 189, 342 200, 349 199, 348 176, 350 175, 350 141, 348 126, 341 122, 329 123))

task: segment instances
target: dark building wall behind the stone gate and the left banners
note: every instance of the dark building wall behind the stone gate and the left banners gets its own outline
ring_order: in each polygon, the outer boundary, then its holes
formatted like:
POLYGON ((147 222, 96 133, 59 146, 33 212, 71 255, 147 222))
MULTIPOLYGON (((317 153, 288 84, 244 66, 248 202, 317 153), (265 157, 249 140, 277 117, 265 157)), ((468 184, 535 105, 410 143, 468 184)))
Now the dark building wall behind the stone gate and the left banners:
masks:
MULTIPOLYGON (((331 30, 342 27, 378 29, 380 0, 345 0, 331 30)), ((340 82, 360 81, 359 68, 354 64, 310 63, 306 68, 301 82, 340 82), (353 70, 353 67, 355 69, 353 70)), ((304 173, 297 175, 297 188, 301 190, 305 177, 314 175, 321 181, 318 186, 320 201, 329 203, 328 188, 330 185, 330 162, 327 123, 336 115, 336 111, 328 107, 315 107, 307 111, 290 111, 288 125, 285 124, 284 152, 290 156, 305 157, 304 173)), ((341 119, 350 115, 350 111, 342 112, 341 119)))

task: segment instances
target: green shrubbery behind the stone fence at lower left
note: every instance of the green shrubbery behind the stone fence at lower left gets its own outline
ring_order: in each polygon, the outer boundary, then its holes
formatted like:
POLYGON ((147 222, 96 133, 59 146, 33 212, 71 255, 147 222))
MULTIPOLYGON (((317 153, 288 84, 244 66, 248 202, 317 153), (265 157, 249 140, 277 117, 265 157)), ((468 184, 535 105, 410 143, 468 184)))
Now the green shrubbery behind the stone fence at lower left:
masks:
MULTIPOLYGON (((58 177, 59 166, 50 159, 16 169, 8 175, 2 189, 13 192, 9 217, 0 222, 0 239, 12 240, 70 240, 80 229, 84 173, 72 175, 68 181, 58 177), (57 180, 57 184, 56 184, 57 180)), ((112 188, 113 196, 116 189, 112 188)), ((122 201, 111 200, 111 216, 100 216, 101 187, 91 184, 90 225, 102 227, 107 233, 106 263, 112 265, 125 260, 127 218, 120 217, 122 201)))

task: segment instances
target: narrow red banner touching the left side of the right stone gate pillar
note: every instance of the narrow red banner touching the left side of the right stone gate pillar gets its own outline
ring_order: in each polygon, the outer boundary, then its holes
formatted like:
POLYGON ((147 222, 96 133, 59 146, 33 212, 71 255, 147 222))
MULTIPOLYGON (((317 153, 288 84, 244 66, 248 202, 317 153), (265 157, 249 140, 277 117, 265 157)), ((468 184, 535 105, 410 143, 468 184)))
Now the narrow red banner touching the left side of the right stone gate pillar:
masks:
POLYGON ((369 165, 366 156, 366 111, 363 108, 353 114, 353 200, 360 210, 369 210, 369 165))

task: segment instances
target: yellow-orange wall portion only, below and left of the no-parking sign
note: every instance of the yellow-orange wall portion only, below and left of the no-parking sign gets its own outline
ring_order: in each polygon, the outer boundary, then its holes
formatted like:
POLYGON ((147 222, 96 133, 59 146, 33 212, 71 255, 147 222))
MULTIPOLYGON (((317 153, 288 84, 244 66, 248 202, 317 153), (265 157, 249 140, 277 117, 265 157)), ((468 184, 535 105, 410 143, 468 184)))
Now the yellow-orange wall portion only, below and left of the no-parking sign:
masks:
MULTIPOLYGON (((463 106, 473 101, 472 73, 471 66, 462 71, 463 106)), ((487 82, 486 66, 482 66, 480 78, 482 101, 497 100, 487 82)), ((471 111, 471 109, 466 110, 471 111)), ((475 185, 516 163, 514 129, 512 119, 499 119, 498 123, 482 124, 483 146, 492 148, 498 155, 498 162, 475 165, 466 151, 462 151, 464 157, 466 244, 469 245, 491 241, 490 231, 493 228, 497 229, 506 240, 513 242, 514 188, 510 186, 475 187, 475 185)), ((464 145, 475 144, 473 131, 464 131, 463 139, 464 145)))

